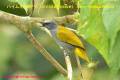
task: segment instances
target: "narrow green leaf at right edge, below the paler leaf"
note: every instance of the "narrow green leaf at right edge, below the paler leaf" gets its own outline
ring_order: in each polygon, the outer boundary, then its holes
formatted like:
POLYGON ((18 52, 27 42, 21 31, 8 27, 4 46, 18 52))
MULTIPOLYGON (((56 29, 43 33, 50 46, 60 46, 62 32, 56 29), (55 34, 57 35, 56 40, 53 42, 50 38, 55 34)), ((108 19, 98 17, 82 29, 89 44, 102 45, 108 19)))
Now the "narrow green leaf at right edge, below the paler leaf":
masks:
POLYGON ((112 72, 117 72, 120 70, 120 31, 117 34, 117 38, 115 40, 115 44, 109 54, 109 66, 112 69, 112 72))

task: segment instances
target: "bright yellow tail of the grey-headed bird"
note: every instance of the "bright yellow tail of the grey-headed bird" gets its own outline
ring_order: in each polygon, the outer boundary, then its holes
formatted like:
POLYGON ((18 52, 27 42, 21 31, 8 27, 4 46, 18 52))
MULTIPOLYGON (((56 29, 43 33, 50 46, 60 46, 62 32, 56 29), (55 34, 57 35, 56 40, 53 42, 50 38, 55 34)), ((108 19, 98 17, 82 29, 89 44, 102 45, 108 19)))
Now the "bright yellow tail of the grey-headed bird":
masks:
POLYGON ((75 48, 74 52, 75 52, 75 54, 77 54, 78 56, 80 56, 82 59, 84 59, 85 61, 87 61, 88 63, 90 63, 90 60, 88 59, 88 56, 87 56, 85 50, 82 50, 80 48, 75 48))

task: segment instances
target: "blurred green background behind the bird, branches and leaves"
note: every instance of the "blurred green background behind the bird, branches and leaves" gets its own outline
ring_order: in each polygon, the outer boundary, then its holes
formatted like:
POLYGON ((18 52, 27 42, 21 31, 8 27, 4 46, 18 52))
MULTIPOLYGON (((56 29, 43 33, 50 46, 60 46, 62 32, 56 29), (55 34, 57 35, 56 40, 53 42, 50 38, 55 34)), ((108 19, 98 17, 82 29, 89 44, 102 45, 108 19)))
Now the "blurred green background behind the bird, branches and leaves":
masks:
MULTIPOLYGON (((40 2, 41 0, 38 0, 35 4, 39 5, 40 2)), ((53 4, 52 2, 47 3, 47 1, 45 3, 53 4)), ((8 0, 0 0, 0 10, 19 16, 28 15, 22 8, 6 8, 6 5, 13 4, 15 3, 9 2, 8 0)), ((18 4, 16 3, 16 5, 18 4)), ((60 13, 60 16, 63 16, 72 14, 73 12, 71 12, 71 9, 60 9, 60 13)), ((52 16, 58 16, 56 9, 39 8, 35 9, 33 14, 33 17, 52 16)), ((76 25, 68 24, 67 26, 76 29, 76 25)), ((45 49, 66 68, 63 52, 56 42, 45 31, 32 30, 31 32, 45 49)), ((80 59, 85 77, 91 77, 91 80, 120 80, 119 75, 114 76, 110 74, 109 67, 98 51, 86 41, 83 40, 83 42, 90 60, 99 62, 94 69, 90 69, 87 67, 86 62, 80 59)), ((78 78, 79 74, 77 72, 74 54, 70 54, 70 56, 74 71, 73 77, 78 78)), ((64 80, 64 77, 35 49, 24 36, 23 32, 13 25, 0 23, 0 80, 64 80), (18 73, 22 73, 22 75, 37 75, 41 76, 41 78, 5 79, 7 75, 18 75, 18 73)))

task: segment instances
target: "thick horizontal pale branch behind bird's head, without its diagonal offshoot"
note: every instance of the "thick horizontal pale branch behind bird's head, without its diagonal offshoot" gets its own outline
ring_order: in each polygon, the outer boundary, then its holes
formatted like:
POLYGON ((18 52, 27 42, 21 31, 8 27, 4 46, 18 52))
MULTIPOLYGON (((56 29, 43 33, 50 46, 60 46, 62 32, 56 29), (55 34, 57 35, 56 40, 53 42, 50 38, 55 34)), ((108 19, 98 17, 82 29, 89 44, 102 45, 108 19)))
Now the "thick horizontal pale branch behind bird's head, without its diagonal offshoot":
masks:
POLYGON ((55 20, 57 24, 73 24, 75 22, 74 15, 67 15, 62 17, 52 17, 52 18, 32 18, 32 17, 21 17, 14 14, 6 13, 0 10, 0 21, 3 23, 16 25, 21 31, 27 32, 33 28, 40 28, 41 23, 45 20, 51 19, 55 20))

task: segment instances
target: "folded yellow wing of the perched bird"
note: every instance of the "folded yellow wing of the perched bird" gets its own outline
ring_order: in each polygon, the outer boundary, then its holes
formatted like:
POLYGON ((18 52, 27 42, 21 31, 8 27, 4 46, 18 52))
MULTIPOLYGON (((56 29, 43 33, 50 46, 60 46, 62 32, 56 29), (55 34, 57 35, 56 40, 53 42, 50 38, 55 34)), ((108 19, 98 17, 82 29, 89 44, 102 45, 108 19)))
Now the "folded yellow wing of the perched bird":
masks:
POLYGON ((85 49, 79 37, 64 26, 58 27, 57 38, 63 42, 85 49))

